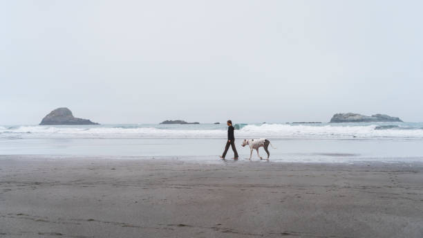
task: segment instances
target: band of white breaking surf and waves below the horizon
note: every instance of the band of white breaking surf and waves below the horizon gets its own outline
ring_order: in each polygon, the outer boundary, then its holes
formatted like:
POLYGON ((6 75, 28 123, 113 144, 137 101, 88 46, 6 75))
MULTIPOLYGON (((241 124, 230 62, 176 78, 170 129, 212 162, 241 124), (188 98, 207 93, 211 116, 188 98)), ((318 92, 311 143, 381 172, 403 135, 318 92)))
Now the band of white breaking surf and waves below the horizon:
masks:
MULTIPOLYGON (((378 125, 246 125, 237 138, 423 138, 423 129, 375 129, 378 125)), ((153 126, 0 127, 0 138, 225 138, 225 127, 153 126)))

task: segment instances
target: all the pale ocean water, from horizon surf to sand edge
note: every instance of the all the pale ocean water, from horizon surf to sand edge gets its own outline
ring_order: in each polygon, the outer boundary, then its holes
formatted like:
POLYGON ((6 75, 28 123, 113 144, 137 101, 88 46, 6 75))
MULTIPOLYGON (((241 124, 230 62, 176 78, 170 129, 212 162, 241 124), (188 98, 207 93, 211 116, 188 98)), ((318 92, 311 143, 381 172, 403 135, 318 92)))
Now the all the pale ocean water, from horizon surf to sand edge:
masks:
MULTIPOLYGON (((423 161, 423 123, 240 124, 243 138, 268 138, 272 161, 423 161)), ((0 155, 122 156, 216 160, 223 151, 226 125, 0 126, 0 155)), ((261 156, 265 157, 263 149, 261 156)), ((228 158, 233 156, 229 149, 228 158)), ((256 152, 253 159, 257 160, 256 152)))

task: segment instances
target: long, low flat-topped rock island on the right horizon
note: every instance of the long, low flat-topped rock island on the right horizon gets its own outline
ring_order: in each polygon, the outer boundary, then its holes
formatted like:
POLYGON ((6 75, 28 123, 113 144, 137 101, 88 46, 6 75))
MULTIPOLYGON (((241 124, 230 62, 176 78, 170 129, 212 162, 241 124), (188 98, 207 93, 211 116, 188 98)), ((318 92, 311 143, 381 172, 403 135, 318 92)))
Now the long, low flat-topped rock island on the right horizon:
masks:
POLYGON ((337 113, 332 116, 330 122, 402 122, 402 120, 384 114, 364 116, 358 113, 337 113))

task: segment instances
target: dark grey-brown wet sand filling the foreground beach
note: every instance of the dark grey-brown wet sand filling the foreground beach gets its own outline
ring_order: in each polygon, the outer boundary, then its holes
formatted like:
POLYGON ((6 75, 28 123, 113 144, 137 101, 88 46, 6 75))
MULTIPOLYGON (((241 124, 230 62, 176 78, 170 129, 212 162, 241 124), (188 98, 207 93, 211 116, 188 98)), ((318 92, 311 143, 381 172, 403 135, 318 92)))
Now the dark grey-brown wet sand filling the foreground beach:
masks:
POLYGON ((0 237, 423 237, 423 164, 0 156, 0 237))

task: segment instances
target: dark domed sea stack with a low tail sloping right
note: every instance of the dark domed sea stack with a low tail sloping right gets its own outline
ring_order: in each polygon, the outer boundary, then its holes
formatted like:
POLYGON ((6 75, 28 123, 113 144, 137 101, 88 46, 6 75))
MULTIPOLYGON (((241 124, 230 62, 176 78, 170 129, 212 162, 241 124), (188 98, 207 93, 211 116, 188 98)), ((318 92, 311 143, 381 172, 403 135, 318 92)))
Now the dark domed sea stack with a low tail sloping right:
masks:
POLYGON ((98 123, 88 119, 75 118, 71 110, 59 107, 48 113, 39 125, 98 125, 98 123))

